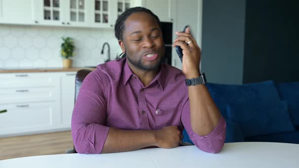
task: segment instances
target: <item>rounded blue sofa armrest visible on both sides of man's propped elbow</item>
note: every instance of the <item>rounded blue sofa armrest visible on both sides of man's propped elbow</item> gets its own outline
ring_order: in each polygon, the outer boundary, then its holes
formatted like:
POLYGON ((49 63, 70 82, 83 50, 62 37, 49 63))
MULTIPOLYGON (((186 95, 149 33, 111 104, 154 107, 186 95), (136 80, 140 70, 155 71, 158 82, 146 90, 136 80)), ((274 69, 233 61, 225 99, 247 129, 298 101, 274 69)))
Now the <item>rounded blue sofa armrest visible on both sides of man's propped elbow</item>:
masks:
MULTIPOLYGON (((244 142, 244 136, 242 134, 240 126, 236 122, 229 119, 226 119, 226 123, 227 123, 227 134, 226 134, 225 143, 244 142)), ((189 135, 185 129, 183 130, 182 135, 183 135, 182 142, 184 145, 194 145, 194 143, 190 140, 189 135)))

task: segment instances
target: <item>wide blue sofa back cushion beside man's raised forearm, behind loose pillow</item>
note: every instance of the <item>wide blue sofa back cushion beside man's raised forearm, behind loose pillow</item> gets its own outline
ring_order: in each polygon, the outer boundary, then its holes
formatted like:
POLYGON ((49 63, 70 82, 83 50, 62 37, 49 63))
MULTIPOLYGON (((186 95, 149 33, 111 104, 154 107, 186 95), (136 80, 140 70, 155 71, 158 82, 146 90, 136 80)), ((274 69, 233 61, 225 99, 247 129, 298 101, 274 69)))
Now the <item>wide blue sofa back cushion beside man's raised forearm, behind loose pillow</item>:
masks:
POLYGON ((280 101, 272 80, 244 85, 207 83, 207 88, 224 118, 227 118, 228 104, 250 103, 253 101, 280 101))

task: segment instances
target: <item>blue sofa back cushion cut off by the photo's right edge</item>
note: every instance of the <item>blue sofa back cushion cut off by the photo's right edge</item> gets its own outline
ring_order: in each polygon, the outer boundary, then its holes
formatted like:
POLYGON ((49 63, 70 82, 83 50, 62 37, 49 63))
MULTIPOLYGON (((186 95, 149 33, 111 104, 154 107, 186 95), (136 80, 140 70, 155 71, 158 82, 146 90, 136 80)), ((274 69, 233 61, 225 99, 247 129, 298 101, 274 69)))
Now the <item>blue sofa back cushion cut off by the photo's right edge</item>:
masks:
POLYGON ((278 83, 276 86, 281 99, 288 102, 292 122, 299 126, 299 82, 278 83))

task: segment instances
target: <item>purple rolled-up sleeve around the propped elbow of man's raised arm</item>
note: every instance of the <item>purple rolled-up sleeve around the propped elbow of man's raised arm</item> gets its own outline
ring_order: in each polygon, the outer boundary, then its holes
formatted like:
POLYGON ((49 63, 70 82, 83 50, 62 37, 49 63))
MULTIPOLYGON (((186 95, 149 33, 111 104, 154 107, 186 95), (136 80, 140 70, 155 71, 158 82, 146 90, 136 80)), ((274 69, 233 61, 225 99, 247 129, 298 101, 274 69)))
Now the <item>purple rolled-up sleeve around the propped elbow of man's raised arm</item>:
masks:
POLYGON ((226 121, 221 116, 216 128, 206 136, 196 134, 191 127, 190 103, 185 102, 182 107, 181 121, 187 131, 190 140, 202 151, 208 153, 218 153, 226 139, 226 121))

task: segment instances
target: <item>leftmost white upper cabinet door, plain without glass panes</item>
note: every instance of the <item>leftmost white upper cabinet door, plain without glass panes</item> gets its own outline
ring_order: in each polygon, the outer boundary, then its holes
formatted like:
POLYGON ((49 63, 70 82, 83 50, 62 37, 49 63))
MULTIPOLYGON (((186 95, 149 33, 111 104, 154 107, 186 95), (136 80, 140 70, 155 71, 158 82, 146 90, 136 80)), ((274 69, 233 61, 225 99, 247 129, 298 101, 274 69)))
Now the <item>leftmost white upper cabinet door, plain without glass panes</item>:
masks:
POLYGON ((33 24, 34 0, 0 0, 0 23, 33 24))

